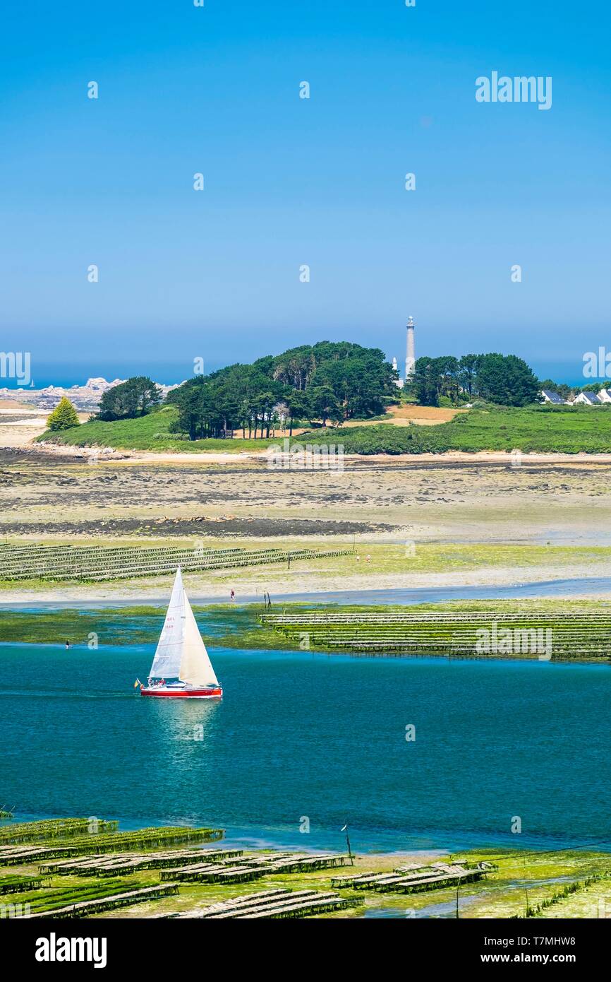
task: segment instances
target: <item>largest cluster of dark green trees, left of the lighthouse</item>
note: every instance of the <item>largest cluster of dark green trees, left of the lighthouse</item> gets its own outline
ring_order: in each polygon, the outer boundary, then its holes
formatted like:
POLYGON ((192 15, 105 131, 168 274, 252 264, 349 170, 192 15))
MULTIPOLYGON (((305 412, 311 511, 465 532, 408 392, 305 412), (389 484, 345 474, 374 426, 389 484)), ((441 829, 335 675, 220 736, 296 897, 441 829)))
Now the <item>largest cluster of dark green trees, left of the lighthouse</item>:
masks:
POLYGON ((174 429, 191 440, 241 429, 249 438, 269 437, 283 419, 330 420, 378 415, 396 398, 394 373, 380 349, 349 342, 303 345, 253 364, 234 364, 196 376, 174 389, 174 429))

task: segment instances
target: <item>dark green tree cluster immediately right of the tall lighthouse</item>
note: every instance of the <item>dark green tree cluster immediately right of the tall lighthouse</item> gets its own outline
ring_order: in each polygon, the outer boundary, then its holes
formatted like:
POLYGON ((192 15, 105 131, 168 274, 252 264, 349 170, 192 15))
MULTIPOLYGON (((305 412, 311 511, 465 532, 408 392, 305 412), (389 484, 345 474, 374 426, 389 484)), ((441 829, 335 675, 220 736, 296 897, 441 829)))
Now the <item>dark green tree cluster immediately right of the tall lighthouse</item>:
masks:
POLYGON ((444 355, 418 358, 411 393, 421 406, 438 406, 442 397, 457 404, 476 397, 499 406, 538 402, 541 385, 516 355, 444 355))

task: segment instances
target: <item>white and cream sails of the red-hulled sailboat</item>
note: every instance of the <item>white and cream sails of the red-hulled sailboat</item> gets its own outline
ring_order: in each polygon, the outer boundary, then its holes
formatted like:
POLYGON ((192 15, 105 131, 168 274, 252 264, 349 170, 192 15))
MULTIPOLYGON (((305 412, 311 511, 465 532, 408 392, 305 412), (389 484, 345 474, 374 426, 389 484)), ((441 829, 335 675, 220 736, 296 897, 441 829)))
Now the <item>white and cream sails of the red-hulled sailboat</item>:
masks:
POLYGON ((193 686, 219 684, 184 592, 179 568, 149 678, 178 678, 193 686))

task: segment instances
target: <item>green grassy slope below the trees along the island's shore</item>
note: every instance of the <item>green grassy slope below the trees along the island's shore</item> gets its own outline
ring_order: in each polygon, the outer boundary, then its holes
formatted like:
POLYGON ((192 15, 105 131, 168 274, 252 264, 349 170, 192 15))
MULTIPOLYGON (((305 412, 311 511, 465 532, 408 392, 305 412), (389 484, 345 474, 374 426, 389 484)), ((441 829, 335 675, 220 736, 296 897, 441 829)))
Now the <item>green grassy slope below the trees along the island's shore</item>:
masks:
MULTIPOLYGON (((89 422, 64 433, 43 433, 39 440, 75 447, 182 452, 262 451, 271 440, 180 440, 169 432, 177 409, 165 407, 138 419, 89 422)), ((346 454, 442 454, 445 451, 512 451, 597 454, 611 452, 611 407, 472 409, 438 426, 369 426, 316 430, 297 438, 303 443, 342 444, 346 454)))

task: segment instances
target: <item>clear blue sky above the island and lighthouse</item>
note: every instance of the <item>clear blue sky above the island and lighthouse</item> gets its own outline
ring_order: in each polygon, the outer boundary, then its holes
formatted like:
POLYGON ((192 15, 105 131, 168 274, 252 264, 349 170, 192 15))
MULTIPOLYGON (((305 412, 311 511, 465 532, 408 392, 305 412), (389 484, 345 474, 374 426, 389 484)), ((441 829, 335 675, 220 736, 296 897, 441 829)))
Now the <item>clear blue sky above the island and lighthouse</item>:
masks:
POLYGON ((30 351, 36 385, 178 381, 198 356, 322 339, 400 360, 409 314, 419 355, 576 380, 611 348, 604 3, 33 0, 3 19, 0 350, 30 351), (551 76, 551 109, 476 102, 494 70, 551 76))

